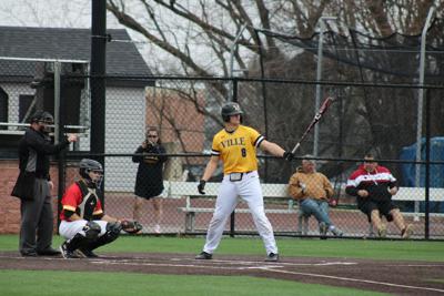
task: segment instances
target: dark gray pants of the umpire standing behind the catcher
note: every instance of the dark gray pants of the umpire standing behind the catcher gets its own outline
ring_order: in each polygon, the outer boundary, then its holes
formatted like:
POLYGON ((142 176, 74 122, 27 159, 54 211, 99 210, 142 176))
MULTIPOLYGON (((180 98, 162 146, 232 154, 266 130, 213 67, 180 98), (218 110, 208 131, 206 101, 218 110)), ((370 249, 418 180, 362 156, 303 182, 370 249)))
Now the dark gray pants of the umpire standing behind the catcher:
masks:
POLYGON ((48 180, 36 178, 33 196, 33 201, 22 200, 20 205, 21 254, 42 252, 52 244, 53 216, 48 180))

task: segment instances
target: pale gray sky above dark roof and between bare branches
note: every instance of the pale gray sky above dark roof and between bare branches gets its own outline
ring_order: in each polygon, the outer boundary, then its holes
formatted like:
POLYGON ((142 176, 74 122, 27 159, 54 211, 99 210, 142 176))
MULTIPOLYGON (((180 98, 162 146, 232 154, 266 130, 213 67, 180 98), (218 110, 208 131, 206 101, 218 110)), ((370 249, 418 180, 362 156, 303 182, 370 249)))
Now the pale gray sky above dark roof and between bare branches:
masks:
MULTIPOLYGON (((0 0, 0 25, 91 28, 91 2, 92 0, 0 0)), ((131 10, 141 23, 151 25, 147 22, 145 11, 138 7, 138 1, 125 0, 125 4, 127 9, 131 10)), ((204 68, 212 71, 218 71, 221 68, 219 58, 208 47, 202 45, 200 39, 190 40, 186 38, 189 25, 186 22, 170 16, 168 10, 159 9, 157 13, 168 25, 171 24, 172 29, 170 28, 170 30, 174 30, 180 39, 180 47, 189 47, 194 59, 204 68), (171 21, 171 18, 174 18, 173 21, 171 21)), ((107 12, 107 28, 125 29, 110 12, 107 12)), ((127 31, 131 39, 137 41, 137 48, 154 72, 181 72, 180 63, 175 58, 147 42, 147 39, 141 34, 129 29, 127 31)), ((168 34, 168 30, 164 33, 168 34)))

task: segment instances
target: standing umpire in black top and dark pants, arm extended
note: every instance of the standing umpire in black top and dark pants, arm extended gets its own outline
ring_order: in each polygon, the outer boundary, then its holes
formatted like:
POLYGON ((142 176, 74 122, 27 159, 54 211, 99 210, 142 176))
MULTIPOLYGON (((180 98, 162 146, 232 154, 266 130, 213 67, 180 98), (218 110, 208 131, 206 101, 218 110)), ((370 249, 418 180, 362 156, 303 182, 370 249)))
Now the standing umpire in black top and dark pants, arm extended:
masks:
POLYGON ((60 252, 51 247, 53 214, 51 190, 53 183, 49 175, 49 155, 57 154, 77 135, 68 135, 59 144, 52 144, 49 136, 49 124, 54 120, 49 112, 37 111, 31 116, 31 127, 19 142, 19 169, 12 195, 21 200, 20 242, 22 256, 54 256, 60 252))

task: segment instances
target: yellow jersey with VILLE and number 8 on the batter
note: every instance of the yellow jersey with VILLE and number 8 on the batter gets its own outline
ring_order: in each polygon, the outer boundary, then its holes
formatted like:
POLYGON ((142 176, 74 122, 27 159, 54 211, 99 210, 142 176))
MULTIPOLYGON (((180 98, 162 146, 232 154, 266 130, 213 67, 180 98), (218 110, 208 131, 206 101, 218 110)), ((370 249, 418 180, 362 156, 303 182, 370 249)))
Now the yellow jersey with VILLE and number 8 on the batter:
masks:
POLYGON ((263 135, 245 125, 233 132, 223 129, 213 137, 211 155, 222 160, 224 174, 256 171, 256 147, 263 140, 263 135))

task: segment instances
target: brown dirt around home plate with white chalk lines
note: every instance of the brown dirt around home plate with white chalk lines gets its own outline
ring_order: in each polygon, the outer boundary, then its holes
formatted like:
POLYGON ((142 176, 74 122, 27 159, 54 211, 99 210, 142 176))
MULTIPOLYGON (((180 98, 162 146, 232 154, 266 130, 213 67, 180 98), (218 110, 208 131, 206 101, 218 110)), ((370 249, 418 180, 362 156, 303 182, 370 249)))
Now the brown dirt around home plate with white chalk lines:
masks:
POLYGON ((195 261, 194 255, 108 253, 95 259, 21 257, 0 252, 2 269, 127 272, 176 275, 245 275, 310 284, 354 287, 396 295, 444 295, 444 263, 376 262, 352 258, 283 257, 265 263, 259 256, 214 256, 195 261))

